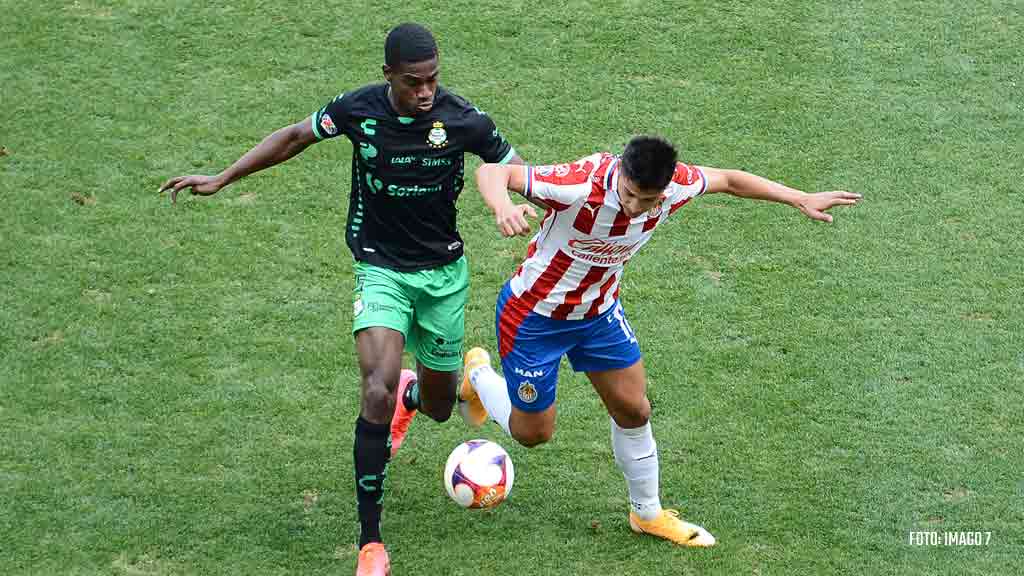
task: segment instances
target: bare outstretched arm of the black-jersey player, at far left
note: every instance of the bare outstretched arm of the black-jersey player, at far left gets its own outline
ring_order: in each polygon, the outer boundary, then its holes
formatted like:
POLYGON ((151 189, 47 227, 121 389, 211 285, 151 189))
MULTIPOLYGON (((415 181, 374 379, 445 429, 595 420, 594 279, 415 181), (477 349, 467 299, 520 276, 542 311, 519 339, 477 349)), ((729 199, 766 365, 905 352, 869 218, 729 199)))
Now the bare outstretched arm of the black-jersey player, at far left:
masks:
POLYGON ((191 194, 210 196, 243 176, 281 164, 314 141, 316 141, 316 136, 313 134, 309 120, 303 120, 275 130, 263 138, 263 141, 253 147, 245 156, 236 160, 223 172, 215 176, 202 174, 175 176, 164 182, 160 187, 160 192, 170 191, 172 203, 177 202, 178 193, 182 190, 188 190, 191 194))

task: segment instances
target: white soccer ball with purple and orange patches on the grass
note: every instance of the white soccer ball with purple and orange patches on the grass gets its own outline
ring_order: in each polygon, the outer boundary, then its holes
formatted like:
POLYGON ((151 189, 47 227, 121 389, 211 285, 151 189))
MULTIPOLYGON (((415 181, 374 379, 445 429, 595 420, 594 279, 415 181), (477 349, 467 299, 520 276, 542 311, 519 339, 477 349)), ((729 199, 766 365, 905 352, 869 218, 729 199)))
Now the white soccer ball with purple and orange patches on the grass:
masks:
POLYGON ((444 464, 444 489, 464 508, 493 508, 512 491, 515 471, 508 452, 489 440, 456 446, 444 464))

